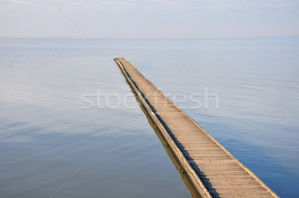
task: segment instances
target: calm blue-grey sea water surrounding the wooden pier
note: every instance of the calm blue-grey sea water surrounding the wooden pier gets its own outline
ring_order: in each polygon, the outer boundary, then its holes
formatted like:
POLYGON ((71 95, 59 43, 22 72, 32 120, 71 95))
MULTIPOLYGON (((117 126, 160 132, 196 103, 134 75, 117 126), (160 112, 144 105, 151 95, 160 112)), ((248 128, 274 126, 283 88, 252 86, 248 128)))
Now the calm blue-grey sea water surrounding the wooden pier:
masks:
POLYGON ((279 196, 299 196, 299 38, 215 39, 198 52, 206 40, 93 41, 102 51, 0 39, 1 197, 190 197, 119 56, 279 196))

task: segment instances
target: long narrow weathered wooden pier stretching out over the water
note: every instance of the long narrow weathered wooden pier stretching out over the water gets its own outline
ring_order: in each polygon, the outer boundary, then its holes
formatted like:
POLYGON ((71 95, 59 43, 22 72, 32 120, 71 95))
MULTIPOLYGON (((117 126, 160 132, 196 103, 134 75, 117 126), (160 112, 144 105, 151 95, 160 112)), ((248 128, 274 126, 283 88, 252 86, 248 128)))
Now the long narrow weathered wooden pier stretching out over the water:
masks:
POLYGON ((125 58, 114 58, 203 198, 279 198, 125 58))

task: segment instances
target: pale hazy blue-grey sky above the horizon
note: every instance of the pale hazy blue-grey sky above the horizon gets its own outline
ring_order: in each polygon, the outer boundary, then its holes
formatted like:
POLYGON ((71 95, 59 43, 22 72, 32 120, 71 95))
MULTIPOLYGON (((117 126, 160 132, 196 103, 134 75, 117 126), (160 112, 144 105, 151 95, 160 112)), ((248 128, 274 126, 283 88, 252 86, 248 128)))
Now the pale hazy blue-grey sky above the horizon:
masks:
POLYGON ((299 37, 299 0, 0 0, 0 37, 299 37))

